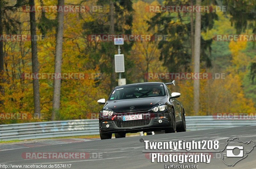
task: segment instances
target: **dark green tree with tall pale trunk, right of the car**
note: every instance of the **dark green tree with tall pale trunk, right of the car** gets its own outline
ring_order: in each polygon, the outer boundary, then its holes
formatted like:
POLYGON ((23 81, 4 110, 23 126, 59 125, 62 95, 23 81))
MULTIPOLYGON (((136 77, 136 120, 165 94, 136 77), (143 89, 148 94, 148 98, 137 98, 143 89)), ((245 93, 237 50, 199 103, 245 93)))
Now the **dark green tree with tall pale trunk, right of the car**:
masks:
MULTIPOLYGON (((200 2, 198 1, 198 3, 200 2)), ((211 5, 207 3, 208 1, 202 2, 202 4, 211 5)), ((194 4, 194 2, 168 0, 164 5, 188 6, 190 4, 194 4)), ((212 29, 214 20, 218 19, 218 16, 216 12, 212 11, 196 12, 195 15, 197 18, 195 39, 191 39, 194 37, 194 19, 193 14, 189 12, 160 12, 149 22, 151 26, 158 25, 159 34, 167 34, 171 37, 168 41, 161 41, 158 44, 158 48, 161 50, 160 60, 164 61, 170 72, 191 71, 194 64, 194 71, 198 73, 200 72, 200 63, 205 64, 206 67, 211 66, 209 53, 211 53, 212 38, 202 39, 201 31, 206 32, 212 29), (191 41, 194 41, 194 51, 191 49, 193 45, 191 41), (191 57, 192 52, 195 54, 194 58, 191 57), (192 63, 192 60, 195 63, 192 63)), ((194 111, 197 114, 199 111, 199 81, 195 80, 194 82, 194 111)))

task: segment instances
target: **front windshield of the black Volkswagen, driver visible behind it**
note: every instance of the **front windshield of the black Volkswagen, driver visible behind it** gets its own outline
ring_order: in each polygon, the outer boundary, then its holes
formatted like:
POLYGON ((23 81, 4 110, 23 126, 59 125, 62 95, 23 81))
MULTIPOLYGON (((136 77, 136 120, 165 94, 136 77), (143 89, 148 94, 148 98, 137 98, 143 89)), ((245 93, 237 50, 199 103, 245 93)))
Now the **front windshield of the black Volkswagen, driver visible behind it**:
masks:
POLYGON ((141 97, 157 97, 165 95, 163 84, 142 84, 119 86, 114 89, 108 100, 133 99, 141 97))

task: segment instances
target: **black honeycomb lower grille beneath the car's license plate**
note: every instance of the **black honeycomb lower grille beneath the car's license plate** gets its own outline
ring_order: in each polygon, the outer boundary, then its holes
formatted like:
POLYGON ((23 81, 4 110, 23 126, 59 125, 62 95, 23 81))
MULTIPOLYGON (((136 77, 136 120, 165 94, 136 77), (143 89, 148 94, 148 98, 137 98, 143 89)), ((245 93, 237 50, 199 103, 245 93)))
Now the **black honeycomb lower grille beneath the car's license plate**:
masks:
POLYGON ((150 121, 151 119, 114 121, 114 122, 117 127, 136 127, 136 126, 146 126, 150 123, 150 121))

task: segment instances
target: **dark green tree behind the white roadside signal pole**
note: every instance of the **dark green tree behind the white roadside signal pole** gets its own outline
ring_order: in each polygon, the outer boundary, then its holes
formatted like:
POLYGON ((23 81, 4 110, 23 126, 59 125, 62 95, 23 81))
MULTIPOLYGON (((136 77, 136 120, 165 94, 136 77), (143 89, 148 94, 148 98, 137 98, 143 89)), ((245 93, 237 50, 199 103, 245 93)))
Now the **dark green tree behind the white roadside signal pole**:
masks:
MULTIPOLYGON (((132 32, 132 1, 104 1, 98 0, 97 5, 103 6, 102 12, 90 13, 90 20, 84 19, 83 33, 85 36, 91 34, 126 34, 130 35, 132 32), (113 2, 113 4, 112 4, 113 2), (93 26, 92 26, 93 25, 93 26)), ((121 51, 124 55, 129 54, 133 42, 125 42, 121 46, 121 51)), ((114 66, 114 55, 117 53, 117 46, 114 42, 102 42, 93 41, 88 42, 86 53, 90 53, 92 62, 95 60, 106 60, 106 62, 97 62, 96 64, 91 64, 90 67, 100 66, 101 72, 106 73, 111 77, 111 82, 108 86, 108 92, 117 85, 116 73, 114 66), (111 70, 111 71, 109 71, 111 70)), ((125 64, 129 65, 131 61, 127 60, 125 57, 125 64)), ((124 76, 126 76, 124 73, 124 76)), ((127 81, 129 82, 129 80, 127 81)))

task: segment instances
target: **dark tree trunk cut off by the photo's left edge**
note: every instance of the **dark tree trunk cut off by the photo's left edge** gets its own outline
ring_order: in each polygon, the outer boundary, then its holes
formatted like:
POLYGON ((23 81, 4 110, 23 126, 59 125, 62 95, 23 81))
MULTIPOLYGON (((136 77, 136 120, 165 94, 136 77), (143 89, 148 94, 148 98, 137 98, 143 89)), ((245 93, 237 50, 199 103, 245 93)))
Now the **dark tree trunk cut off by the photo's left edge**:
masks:
MULTIPOLYGON (((0 35, 3 35, 3 23, 2 23, 2 2, 0 2, 0 35)), ((4 51, 3 51, 3 41, 0 41, 0 82, 4 81, 4 51)), ((0 92, 4 95, 4 87, 0 85, 0 92)), ((3 104, 0 101, 0 104, 3 104)))

